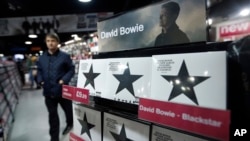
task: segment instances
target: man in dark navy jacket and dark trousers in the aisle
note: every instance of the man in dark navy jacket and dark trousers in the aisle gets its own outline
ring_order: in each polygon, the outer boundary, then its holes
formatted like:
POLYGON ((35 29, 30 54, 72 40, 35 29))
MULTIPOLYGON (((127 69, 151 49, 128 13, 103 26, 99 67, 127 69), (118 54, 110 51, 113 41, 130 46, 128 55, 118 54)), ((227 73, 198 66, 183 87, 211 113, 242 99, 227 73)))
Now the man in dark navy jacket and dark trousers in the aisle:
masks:
POLYGON ((62 98, 62 85, 69 83, 75 68, 70 55, 58 48, 60 39, 56 33, 47 34, 45 42, 48 50, 39 57, 37 80, 43 87, 45 104, 49 113, 51 141, 59 141, 58 104, 61 105, 66 115, 67 126, 63 134, 67 134, 73 127, 72 102, 62 98))

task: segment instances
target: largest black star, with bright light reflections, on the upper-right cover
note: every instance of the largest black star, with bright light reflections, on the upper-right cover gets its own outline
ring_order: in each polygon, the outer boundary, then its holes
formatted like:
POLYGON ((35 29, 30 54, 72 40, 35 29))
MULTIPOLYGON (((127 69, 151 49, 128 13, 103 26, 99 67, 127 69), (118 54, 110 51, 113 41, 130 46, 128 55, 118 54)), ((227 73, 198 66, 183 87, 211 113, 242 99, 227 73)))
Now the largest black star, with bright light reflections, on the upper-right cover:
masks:
POLYGON ((162 77, 174 86, 168 100, 183 93, 197 105, 199 105, 199 103, 193 87, 209 78, 202 76, 189 76, 185 61, 182 62, 181 69, 177 76, 162 75, 162 77))

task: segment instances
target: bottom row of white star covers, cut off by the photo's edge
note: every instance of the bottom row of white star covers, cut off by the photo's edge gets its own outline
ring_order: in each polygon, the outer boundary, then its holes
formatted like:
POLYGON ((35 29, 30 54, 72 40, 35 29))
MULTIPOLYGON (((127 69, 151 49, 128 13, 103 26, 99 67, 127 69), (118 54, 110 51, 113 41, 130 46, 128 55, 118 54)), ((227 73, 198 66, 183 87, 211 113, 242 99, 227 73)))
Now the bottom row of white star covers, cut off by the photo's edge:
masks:
POLYGON ((75 141, 207 141, 147 122, 73 104, 74 128, 70 140, 75 141))

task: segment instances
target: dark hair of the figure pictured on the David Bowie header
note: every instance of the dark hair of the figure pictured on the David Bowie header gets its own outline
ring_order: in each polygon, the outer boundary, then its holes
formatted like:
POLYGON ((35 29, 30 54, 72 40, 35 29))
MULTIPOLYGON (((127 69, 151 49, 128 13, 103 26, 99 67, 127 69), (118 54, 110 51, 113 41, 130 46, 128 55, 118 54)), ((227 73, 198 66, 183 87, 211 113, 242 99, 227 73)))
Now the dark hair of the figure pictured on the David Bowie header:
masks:
POLYGON ((162 8, 165 8, 173 18, 177 19, 180 13, 180 6, 178 3, 170 1, 162 5, 162 8))

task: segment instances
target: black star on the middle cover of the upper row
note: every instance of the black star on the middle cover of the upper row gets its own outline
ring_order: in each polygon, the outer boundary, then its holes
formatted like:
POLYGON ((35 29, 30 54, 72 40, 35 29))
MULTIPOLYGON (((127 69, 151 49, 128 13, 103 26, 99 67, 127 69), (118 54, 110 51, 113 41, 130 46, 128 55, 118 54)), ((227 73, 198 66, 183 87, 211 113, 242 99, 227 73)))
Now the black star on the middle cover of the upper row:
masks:
POLYGON ((131 75, 129 66, 124 70, 123 74, 113 74, 115 78, 120 81, 120 84, 116 90, 116 94, 123 89, 127 89, 134 96, 134 88, 132 83, 142 77, 142 75, 131 75))

